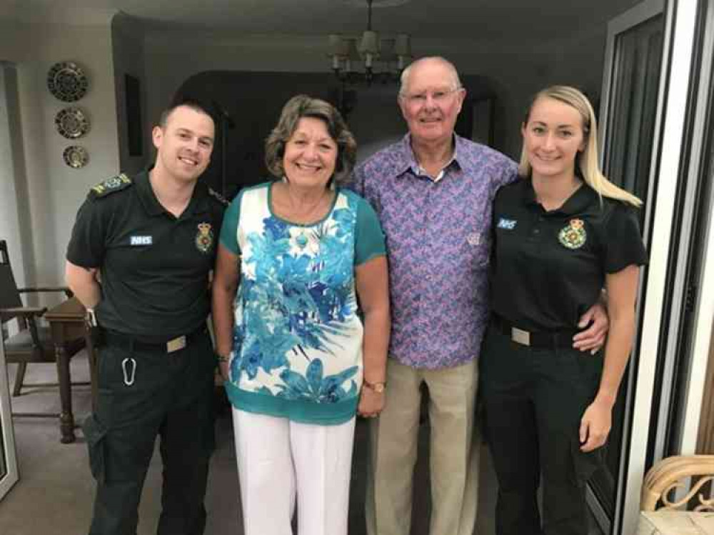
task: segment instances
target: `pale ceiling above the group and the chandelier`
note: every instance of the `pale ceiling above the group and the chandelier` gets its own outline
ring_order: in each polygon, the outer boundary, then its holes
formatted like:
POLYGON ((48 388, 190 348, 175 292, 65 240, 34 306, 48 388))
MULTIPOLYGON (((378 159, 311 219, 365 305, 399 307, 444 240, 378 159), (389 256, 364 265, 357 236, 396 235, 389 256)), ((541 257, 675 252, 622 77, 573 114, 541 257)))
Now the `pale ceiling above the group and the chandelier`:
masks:
MULTIPOLYGON (((638 1, 374 0, 373 28, 433 39, 549 42, 600 26, 638 1)), ((0 16, 20 19, 69 16, 81 23, 114 11, 141 19, 149 29, 236 36, 358 34, 367 19, 366 0, 363 6, 359 0, 0 0, 0 16)))

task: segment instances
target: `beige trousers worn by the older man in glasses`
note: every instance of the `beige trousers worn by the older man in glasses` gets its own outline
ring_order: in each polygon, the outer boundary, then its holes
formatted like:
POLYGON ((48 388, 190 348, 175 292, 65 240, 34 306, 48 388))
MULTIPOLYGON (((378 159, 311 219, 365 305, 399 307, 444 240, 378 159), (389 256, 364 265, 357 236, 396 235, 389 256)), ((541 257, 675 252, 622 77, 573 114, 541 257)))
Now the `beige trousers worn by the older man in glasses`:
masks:
POLYGON ((473 424, 477 363, 428 370, 389 359, 386 406, 370 428, 368 535, 409 535, 422 381, 430 399, 429 534, 473 534, 478 501, 479 440, 473 424))

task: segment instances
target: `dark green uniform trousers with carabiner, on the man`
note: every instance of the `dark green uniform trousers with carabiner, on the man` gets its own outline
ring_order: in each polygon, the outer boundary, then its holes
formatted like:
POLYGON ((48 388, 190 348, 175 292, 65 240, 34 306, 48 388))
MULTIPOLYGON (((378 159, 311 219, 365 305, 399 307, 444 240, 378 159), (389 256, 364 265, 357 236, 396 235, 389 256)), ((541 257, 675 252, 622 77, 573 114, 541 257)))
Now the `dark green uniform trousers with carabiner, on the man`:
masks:
POLYGON ((84 422, 96 479, 90 535, 135 535, 146 471, 161 436, 164 484, 159 535, 200 535, 206 523, 208 460, 214 446, 208 333, 183 349, 101 347, 99 400, 84 422))

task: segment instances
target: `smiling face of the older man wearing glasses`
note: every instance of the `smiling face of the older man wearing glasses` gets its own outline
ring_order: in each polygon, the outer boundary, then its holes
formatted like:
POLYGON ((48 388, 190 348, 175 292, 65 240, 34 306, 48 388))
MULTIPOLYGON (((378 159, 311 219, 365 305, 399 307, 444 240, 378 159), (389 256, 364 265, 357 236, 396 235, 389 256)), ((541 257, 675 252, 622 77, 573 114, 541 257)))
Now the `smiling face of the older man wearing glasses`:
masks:
POLYGON ((457 86, 452 69, 443 61, 427 59, 411 66, 399 106, 413 141, 451 142, 466 91, 457 86))

